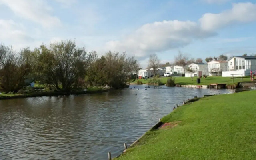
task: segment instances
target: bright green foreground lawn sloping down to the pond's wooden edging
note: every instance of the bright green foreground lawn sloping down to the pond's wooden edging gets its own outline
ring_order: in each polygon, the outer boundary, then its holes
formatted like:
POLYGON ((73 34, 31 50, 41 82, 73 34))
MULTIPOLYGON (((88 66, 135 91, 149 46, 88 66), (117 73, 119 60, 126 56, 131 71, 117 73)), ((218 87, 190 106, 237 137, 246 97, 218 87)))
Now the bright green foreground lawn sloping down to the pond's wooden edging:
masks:
POLYGON ((162 118, 118 160, 255 160, 256 91, 202 98, 162 118))

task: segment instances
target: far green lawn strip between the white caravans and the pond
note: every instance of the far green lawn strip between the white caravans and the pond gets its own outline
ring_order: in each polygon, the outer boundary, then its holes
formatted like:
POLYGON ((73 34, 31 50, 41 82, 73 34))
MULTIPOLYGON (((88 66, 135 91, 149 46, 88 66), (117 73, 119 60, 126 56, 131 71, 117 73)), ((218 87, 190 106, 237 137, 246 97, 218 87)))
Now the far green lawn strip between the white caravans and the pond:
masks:
MULTIPOLYGON (((168 77, 161 77, 161 81, 166 84, 168 77)), ((175 77, 175 83, 180 85, 196 85, 197 77, 193 77, 193 81, 191 77, 175 77)), ((144 84, 148 83, 148 80, 141 79, 144 84)), ((234 83, 241 82, 241 78, 234 78, 234 83)), ((250 77, 243 78, 244 82, 250 81, 250 77)), ((209 85, 211 83, 224 83, 224 84, 233 84, 232 78, 230 77, 221 77, 221 76, 208 76, 207 78, 201 78, 201 85, 209 85)))

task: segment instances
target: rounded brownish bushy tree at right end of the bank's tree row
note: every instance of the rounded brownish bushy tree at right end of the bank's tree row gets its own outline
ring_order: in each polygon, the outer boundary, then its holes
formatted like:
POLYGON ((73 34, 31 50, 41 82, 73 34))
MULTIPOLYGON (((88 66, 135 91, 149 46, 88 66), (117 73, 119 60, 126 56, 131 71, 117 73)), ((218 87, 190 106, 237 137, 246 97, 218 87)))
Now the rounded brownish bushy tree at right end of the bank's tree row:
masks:
POLYGON ((113 88, 124 88, 132 72, 138 72, 139 64, 134 57, 126 57, 125 53, 108 52, 92 62, 86 81, 90 85, 113 88))

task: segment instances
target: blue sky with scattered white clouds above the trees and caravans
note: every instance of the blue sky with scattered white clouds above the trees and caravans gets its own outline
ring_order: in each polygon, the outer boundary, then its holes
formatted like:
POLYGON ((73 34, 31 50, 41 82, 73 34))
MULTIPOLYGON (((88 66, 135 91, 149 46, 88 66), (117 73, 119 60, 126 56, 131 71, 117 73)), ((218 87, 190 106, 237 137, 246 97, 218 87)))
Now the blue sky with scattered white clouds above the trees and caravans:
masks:
POLYGON ((15 50, 74 40, 88 52, 126 52, 146 67, 256 53, 256 0, 0 0, 0 42, 15 50))

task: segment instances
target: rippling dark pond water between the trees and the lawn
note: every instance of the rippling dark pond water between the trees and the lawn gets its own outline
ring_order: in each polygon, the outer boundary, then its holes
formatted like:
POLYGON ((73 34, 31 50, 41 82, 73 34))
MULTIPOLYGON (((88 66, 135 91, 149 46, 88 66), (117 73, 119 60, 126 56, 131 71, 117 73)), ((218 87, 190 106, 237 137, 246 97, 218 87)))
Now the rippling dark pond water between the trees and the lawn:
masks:
POLYGON ((0 160, 107 160, 175 104, 232 90, 140 88, 80 96, 0 101, 0 160), (137 94, 137 96, 135 96, 137 94))

